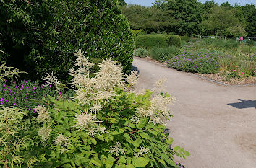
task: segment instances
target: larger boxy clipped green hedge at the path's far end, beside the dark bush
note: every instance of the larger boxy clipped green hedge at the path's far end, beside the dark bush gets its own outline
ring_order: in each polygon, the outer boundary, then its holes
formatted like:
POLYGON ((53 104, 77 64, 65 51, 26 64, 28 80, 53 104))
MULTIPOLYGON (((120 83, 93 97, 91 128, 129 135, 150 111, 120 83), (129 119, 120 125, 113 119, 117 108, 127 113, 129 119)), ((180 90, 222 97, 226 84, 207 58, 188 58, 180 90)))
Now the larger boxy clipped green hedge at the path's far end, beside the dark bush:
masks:
POLYGON ((168 46, 168 37, 166 35, 138 35, 135 38, 135 46, 145 49, 168 46))

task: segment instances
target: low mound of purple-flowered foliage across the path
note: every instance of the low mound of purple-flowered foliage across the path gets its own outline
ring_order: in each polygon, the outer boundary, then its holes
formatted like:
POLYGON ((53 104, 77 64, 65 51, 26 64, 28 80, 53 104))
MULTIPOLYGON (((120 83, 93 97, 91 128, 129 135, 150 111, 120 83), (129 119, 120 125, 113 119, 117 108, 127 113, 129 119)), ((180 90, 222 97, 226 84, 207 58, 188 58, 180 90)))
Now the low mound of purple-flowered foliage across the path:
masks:
POLYGON ((203 74, 216 73, 220 69, 218 57, 211 53, 184 52, 168 61, 169 68, 203 74))

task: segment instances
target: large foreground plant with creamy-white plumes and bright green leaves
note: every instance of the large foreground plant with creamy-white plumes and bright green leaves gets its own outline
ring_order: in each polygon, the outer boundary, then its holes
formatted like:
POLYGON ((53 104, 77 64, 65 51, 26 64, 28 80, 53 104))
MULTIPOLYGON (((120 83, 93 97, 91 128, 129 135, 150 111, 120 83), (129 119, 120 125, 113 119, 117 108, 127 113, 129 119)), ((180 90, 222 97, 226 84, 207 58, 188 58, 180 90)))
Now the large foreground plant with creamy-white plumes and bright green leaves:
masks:
POLYGON ((135 92, 137 74, 126 82, 121 65, 111 58, 90 77, 93 63, 81 50, 74 55, 74 97, 52 97, 54 107, 35 109, 38 134, 31 138, 37 143, 28 151, 40 158, 37 167, 177 167, 174 155, 189 155, 179 146, 172 149, 165 131, 174 97, 157 89, 135 92))

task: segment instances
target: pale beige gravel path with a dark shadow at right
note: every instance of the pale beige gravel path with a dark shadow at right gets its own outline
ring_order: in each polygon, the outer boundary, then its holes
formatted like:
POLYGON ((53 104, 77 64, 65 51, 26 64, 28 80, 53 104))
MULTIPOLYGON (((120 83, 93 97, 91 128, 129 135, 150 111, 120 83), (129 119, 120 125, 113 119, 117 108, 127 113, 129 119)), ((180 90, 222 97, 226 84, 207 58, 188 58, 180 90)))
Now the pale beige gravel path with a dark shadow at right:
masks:
POLYGON ((176 97, 168 122, 174 145, 191 156, 186 168, 256 167, 256 86, 231 87, 134 58, 138 88, 152 89, 167 78, 166 92, 176 97))

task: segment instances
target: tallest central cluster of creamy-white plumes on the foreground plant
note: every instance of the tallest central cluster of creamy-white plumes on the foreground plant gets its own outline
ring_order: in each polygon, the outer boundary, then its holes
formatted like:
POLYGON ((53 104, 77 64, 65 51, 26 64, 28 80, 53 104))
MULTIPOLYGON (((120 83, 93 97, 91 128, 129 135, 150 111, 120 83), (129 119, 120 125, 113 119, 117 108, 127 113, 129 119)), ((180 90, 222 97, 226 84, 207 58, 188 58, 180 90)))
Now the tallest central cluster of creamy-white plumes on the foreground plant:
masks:
POLYGON ((76 69, 69 70, 69 74, 73 76, 72 85, 77 87, 74 99, 78 100, 80 105, 90 105, 90 110, 98 112, 116 96, 114 88, 125 86, 122 81, 122 66, 117 61, 106 58, 99 63, 100 71, 94 78, 90 78, 89 70, 93 63, 83 56, 81 50, 74 55, 77 56, 74 66, 76 69))

